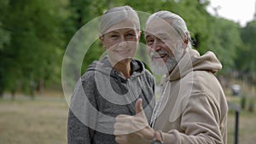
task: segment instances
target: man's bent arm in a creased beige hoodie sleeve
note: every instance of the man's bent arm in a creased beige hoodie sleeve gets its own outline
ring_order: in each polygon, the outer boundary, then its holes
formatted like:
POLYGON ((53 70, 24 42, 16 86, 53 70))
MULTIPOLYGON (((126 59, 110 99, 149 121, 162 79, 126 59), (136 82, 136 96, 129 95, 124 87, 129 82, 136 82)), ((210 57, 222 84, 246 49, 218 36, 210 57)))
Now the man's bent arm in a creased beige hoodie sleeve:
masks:
POLYGON ((204 93, 191 95, 182 114, 181 129, 162 133, 164 143, 224 144, 220 128, 221 109, 210 96, 204 93))

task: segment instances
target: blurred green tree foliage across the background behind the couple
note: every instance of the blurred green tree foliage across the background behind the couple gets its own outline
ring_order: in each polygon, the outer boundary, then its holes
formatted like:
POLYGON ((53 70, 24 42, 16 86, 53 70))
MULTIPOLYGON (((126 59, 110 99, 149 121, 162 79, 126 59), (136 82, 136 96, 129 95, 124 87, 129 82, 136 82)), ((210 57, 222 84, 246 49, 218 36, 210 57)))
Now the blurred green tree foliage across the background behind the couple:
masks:
MULTIPOLYGON (((0 95, 4 89, 28 92, 32 84, 38 89, 61 85, 63 54, 76 32, 106 10, 122 5, 148 14, 169 10, 181 15, 196 41, 195 49, 201 54, 213 51, 224 66, 223 74, 229 74, 230 69, 242 70, 255 78, 255 21, 241 28, 233 21, 208 14, 208 3, 208 0, 1 0, 0 95)), ((93 38, 93 43, 72 43, 79 49, 73 49, 75 55, 67 56, 67 65, 73 67, 67 74, 83 73, 104 53, 96 35, 92 30, 84 30, 84 36, 77 41, 93 38), (90 48, 86 51, 85 47, 90 48), (77 62, 80 56, 82 64, 77 62)), ((137 58, 145 62, 145 53, 142 44, 137 58)))

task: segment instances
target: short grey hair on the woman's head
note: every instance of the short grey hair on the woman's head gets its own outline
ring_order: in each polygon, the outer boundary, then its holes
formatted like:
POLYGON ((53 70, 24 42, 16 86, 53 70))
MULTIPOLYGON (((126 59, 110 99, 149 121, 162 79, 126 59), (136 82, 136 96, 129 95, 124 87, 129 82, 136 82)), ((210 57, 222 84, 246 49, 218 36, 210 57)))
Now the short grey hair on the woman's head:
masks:
POLYGON ((137 12, 130 6, 122 6, 108 9, 108 11, 102 15, 100 26, 101 34, 103 35, 110 27, 124 20, 131 20, 135 24, 137 30, 140 30, 140 20, 137 12))

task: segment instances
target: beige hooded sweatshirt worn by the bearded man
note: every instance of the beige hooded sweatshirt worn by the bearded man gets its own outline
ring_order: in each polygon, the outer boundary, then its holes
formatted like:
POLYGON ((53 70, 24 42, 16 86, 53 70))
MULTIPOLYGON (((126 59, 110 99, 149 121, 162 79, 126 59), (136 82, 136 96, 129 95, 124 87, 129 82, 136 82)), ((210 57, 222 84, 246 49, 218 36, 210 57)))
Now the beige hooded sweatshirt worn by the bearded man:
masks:
POLYGON ((212 52, 190 49, 164 78, 153 115, 165 144, 226 144, 228 106, 213 75, 222 68, 212 52))

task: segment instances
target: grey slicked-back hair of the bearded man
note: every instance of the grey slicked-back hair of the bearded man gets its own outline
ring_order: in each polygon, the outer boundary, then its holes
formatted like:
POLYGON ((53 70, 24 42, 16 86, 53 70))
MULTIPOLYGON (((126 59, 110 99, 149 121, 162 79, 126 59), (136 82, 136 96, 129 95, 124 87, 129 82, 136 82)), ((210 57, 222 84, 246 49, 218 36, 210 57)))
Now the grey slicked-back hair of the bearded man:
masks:
POLYGON ((148 24, 155 19, 161 19, 168 22, 177 31, 178 35, 182 37, 183 40, 188 40, 188 46, 186 49, 192 48, 189 30, 187 28, 186 22, 182 17, 170 11, 162 10, 150 15, 146 22, 146 26, 148 26, 148 24))

